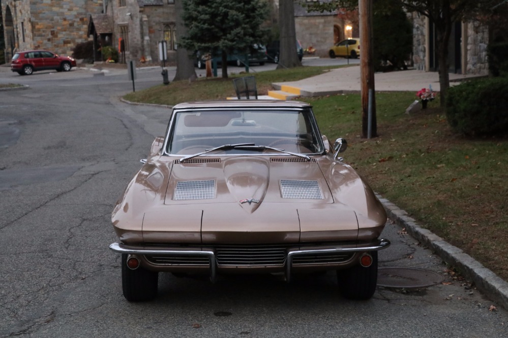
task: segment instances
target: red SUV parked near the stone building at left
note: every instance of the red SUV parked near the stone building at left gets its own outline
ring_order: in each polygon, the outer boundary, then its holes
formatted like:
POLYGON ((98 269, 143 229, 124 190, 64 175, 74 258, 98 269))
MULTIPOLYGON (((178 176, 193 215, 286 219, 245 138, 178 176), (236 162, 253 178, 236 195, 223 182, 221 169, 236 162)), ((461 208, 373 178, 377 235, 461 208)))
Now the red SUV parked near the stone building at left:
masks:
POLYGON ((11 71, 19 75, 31 75, 37 71, 56 70, 69 72, 76 66, 76 60, 69 56, 58 56, 45 50, 29 50, 14 54, 11 71))

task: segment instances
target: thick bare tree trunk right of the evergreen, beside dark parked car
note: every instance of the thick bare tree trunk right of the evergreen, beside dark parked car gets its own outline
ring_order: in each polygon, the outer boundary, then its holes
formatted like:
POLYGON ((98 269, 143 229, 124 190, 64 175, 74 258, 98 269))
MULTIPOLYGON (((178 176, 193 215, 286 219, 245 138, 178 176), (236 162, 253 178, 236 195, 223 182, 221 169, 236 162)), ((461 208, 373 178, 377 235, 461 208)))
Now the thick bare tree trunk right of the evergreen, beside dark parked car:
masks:
POLYGON ((301 66, 296 51, 294 0, 279 0, 280 54, 277 69, 301 66))

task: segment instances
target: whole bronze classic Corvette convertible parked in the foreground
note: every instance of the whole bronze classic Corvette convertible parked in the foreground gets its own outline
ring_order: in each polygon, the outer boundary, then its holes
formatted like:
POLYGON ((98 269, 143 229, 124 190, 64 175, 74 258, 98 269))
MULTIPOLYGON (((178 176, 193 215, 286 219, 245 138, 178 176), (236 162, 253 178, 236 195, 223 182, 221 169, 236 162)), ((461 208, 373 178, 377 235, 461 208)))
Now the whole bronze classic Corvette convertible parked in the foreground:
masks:
POLYGON ((125 298, 154 298, 159 272, 330 270, 344 297, 372 297, 386 213, 339 157, 346 147, 302 102, 174 106, 112 213, 125 298))

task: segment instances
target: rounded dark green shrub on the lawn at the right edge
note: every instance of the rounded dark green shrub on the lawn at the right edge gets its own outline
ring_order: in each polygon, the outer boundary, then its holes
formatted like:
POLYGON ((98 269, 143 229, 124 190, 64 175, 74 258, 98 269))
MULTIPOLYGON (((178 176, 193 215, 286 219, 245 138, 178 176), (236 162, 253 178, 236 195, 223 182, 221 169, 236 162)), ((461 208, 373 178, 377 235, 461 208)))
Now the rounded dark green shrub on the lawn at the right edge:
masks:
POLYGON ((455 131, 490 136, 508 128, 508 77, 472 80, 450 87, 446 118, 455 131))

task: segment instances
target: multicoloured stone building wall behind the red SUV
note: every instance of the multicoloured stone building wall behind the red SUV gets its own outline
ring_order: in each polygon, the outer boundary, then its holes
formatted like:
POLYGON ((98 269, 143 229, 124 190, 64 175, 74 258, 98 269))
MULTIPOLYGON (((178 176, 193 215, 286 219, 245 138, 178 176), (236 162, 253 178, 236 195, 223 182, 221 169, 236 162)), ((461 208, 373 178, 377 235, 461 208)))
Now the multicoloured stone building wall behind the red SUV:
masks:
POLYGON ((101 13, 103 0, 0 0, 0 23, 8 62, 16 50, 47 49, 71 55, 88 41, 91 13, 101 13))

